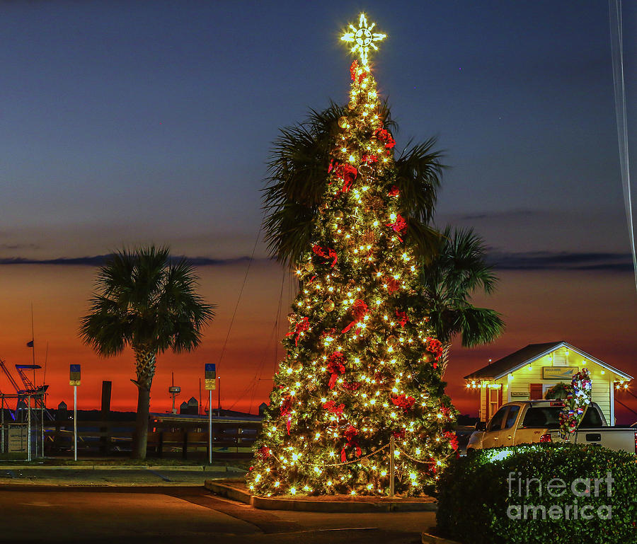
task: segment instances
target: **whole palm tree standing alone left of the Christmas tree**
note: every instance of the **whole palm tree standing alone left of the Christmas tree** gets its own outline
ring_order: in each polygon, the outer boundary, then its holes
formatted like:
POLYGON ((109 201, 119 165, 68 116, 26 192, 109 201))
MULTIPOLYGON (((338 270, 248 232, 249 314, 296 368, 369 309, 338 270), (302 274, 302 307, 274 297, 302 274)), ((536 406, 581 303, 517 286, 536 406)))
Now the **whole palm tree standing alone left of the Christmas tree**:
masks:
POLYGON ((102 357, 127 346, 135 357, 137 422, 133 458, 146 458, 150 388, 155 361, 166 349, 190 351, 201 342, 202 328, 214 317, 214 305, 197 295, 194 268, 173 262, 168 248, 154 245, 120 250, 98 272, 90 313, 81 318, 79 335, 102 357))

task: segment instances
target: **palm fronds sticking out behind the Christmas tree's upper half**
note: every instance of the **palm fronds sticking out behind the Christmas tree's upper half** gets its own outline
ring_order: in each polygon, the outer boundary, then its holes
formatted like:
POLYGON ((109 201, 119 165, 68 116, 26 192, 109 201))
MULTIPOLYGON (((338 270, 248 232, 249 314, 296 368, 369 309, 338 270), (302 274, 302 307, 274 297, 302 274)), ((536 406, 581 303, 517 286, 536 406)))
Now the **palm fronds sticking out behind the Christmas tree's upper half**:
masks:
MULTIPOLYGON (((347 108, 331 103, 326 110, 310 110, 299 125, 281 129, 268 163, 269 177, 263 188, 265 240, 270 254, 288 265, 299 260, 309 247, 313 218, 323 204, 328 165, 338 133, 338 119, 347 108)), ((386 129, 397 129, 387 103, 379 117, 386 129)), ((429 226, 444 166, 442 153, 433 151, 435 139, 422 144, 409 141, 396 158, 394 183, 401 190, 408 219, 407 236, 420 255, 432 253, 438 233, 429 226)))

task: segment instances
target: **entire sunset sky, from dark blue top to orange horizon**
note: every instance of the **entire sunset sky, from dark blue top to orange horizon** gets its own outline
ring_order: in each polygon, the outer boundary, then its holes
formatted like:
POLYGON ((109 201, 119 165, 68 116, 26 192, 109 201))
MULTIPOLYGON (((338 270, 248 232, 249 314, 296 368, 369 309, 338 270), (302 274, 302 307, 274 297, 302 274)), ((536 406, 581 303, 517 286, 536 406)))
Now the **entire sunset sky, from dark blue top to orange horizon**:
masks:
MULTIPOLYGON (((606 3, 4 2, 0 358, 30 362, 33 303, 49 405, 70 405, 69 364, 80 363, 79 407, 98 407, 112 380, 113 408, 134 409, 131 354, 99 359, 77 329, 96 257, 150 242, 193 257, 218 306, 200 349, 159 358, 151 410, 168 410, 171 371, 178 401, 198 398, 206 362, 218 365, 222 407, 255 412, 267 399, 293 284, 261 239, 219 360, 263 219, 265 163, 280 127, 347 100, 338 38, 361 9, 389 35, 374 76, 397 149, 437 136, 445 150, 437 225, 476 228, 498 267, 498 292, 476 303, 503 313, 507 330, 454 347, 455 405, 476 413, 461 377, 534 342, 567 340, 637 376, 606 3)), ((632 141, 636 31, 626 2, 632 141)), ((4 376, 0 390, 13 392, 4 376)), ((620 400, 637 411, 637 398, 620 400)))

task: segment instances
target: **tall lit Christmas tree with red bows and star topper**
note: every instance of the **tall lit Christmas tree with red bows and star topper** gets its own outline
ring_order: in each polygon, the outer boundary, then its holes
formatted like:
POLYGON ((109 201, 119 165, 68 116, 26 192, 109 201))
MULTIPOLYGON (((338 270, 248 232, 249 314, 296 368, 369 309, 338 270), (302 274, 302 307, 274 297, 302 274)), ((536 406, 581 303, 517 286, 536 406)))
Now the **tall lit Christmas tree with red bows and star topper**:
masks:
MULTIPOLYGON (((418 282, 418 219, 401 187, 369 52, 385 36, 364 15, 343 40, 358 54, 338 120, 299 294, 255 444, 249 489, 273 494, 419 494, 455 454, 442 344, 418 282), (395 444, 395 446, 394 446, 395 444)), ((431 197, 432 203, 435 197, 431 197)), ((431 204, 432 207, 432 204, 431 204)), ((431 209, 429 210, 431 212, 431 209)))

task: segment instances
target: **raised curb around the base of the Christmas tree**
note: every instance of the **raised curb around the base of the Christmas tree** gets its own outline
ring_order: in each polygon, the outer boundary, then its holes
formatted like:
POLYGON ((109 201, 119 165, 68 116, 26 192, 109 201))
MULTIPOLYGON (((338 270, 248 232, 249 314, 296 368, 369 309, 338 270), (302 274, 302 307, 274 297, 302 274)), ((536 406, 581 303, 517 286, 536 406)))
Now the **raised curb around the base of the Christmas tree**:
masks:
MULTIPOLYGON (((235 480, 241 481, 241 480, 235 480)), ((413 511, 436 511, 436 502, 422 502, 413 500, 396 500, 396 501, 306 501, 303 499, 274 499, 270 497, 256 497, 248 492, 234 487, 229 484, 230 480, 223 482, 214 480, 205 480, 204 486, 207 490, 212 491, 227 499, 235 500, 249 504, 251 507, 261 510, 294 510, 302 512, 338 512, 338 513, 357 513, 357 512, 413 512, 413 511)))

